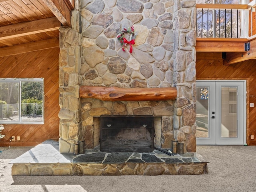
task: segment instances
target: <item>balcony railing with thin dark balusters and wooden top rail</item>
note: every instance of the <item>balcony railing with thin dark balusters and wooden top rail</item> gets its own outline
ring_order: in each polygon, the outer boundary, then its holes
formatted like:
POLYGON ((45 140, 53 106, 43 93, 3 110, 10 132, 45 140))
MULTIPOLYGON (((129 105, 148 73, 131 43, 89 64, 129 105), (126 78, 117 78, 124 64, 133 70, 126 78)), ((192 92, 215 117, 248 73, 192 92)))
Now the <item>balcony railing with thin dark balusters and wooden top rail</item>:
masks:
POLYGON ((256 1, 250 4, 196 4, 198 38, 250 38, 256 35, 256 1))

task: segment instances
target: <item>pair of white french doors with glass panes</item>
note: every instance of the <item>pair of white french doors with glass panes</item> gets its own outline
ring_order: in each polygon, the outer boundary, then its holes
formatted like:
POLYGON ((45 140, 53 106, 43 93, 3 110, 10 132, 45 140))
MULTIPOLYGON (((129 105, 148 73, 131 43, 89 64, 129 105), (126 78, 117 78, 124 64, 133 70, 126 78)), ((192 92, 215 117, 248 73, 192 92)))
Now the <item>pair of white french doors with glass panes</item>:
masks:
POLYGON ((246 144, 246 81, 196 81, 196 144, 246 144))

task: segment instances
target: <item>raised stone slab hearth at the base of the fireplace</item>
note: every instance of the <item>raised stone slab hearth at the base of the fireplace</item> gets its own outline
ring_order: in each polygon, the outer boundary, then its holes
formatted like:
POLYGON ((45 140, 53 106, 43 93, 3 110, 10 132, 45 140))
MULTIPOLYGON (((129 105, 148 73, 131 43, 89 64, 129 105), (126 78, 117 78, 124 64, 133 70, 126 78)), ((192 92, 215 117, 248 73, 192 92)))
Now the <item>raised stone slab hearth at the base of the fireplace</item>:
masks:
POLYGON ((191 175, 207 174, 207 161, 200 154, 169 156, 153 152, 112 152, 94 149, 84 154, 61 154, 59 143, 47 140, 10 162, 12 175, 191 175))

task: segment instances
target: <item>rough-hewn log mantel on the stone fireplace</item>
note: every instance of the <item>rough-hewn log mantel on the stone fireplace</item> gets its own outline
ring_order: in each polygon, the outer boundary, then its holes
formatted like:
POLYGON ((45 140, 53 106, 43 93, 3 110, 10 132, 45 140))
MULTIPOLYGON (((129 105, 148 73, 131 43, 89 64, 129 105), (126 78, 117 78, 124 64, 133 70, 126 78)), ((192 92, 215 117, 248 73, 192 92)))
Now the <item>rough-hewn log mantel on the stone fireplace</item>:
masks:
POLYGON ((177 90, 164 88, 118 88, 103 86, 80 86, 80 98, 96 98, 102 101, 160 101, 175 100, 177 90))

